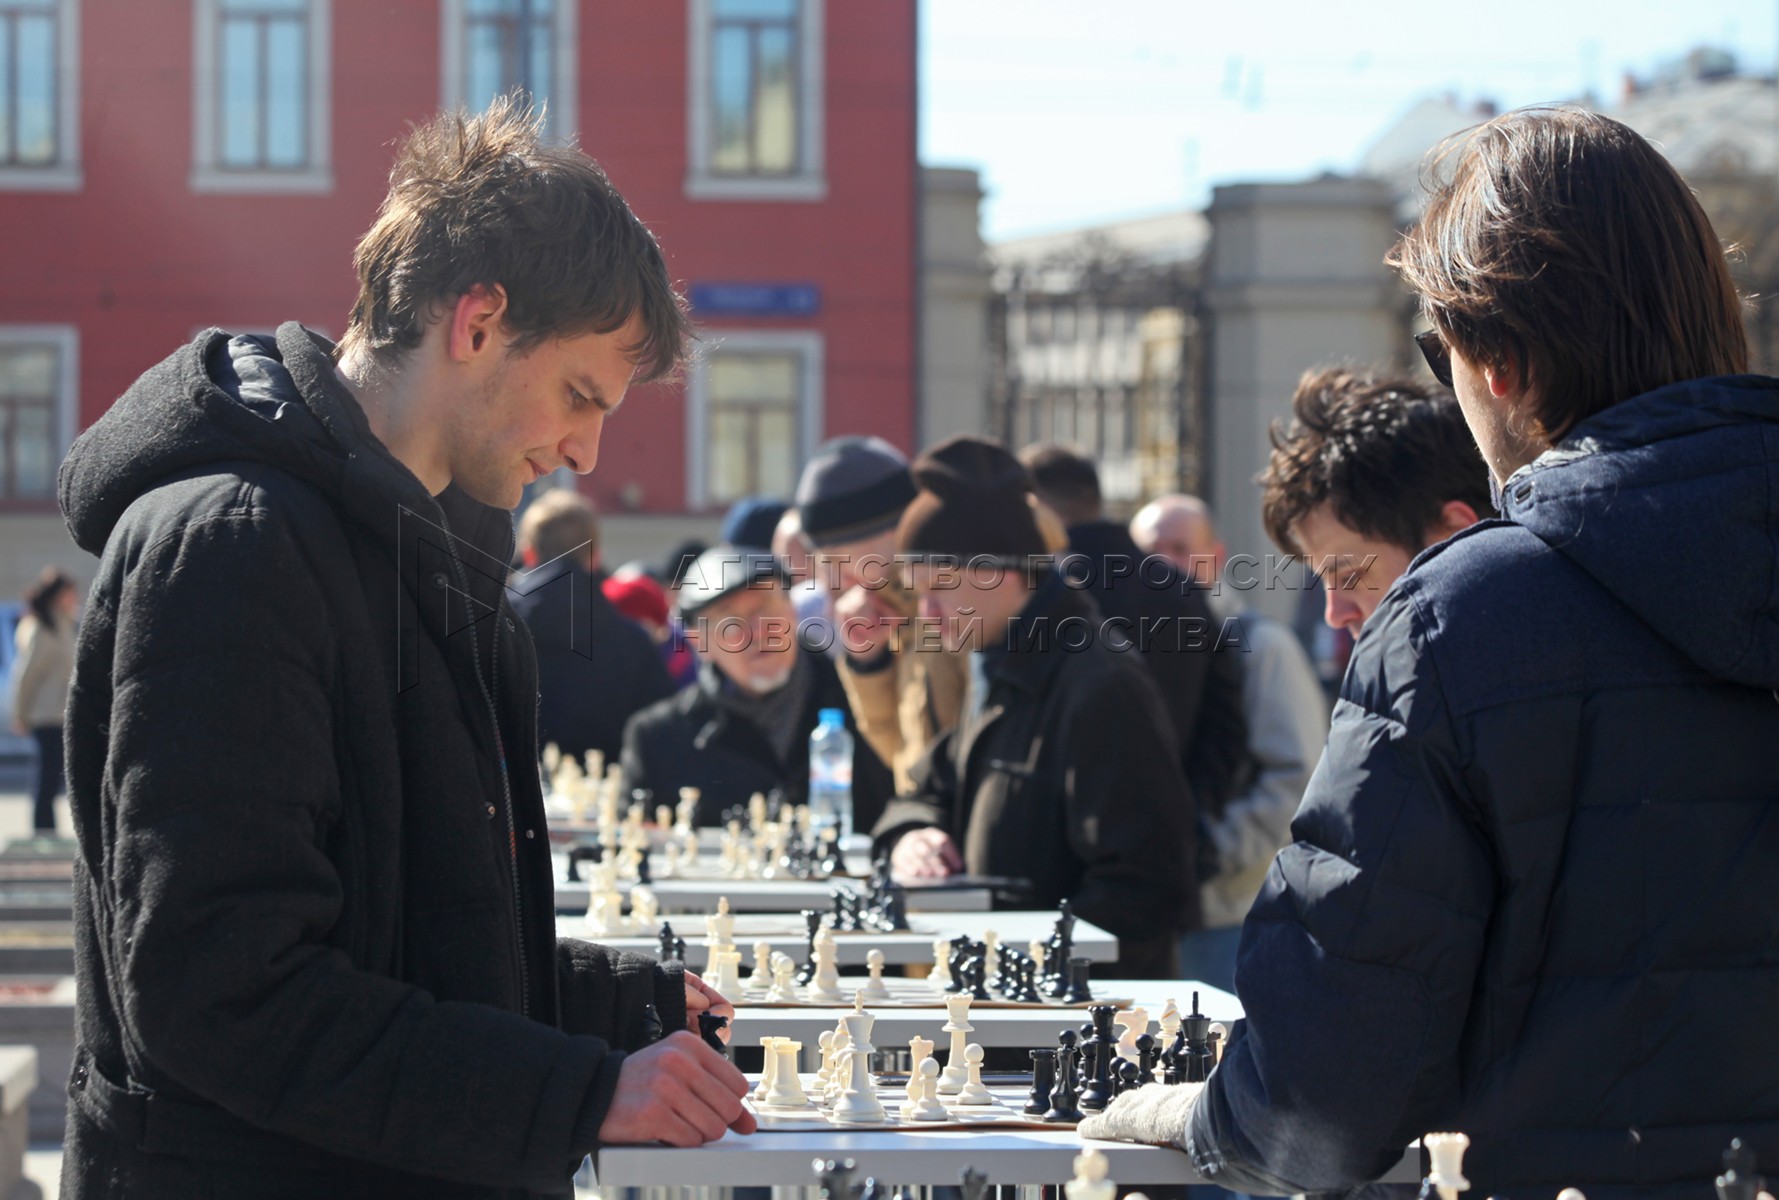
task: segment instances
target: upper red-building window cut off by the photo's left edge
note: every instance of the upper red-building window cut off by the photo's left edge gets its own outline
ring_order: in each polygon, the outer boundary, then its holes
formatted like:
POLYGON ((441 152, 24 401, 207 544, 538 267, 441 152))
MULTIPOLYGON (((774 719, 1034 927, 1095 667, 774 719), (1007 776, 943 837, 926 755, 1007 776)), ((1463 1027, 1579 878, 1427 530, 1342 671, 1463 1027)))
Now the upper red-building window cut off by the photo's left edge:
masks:
POLYGON ((78 0, 0 0, 0 188, 80 187, 78 0))

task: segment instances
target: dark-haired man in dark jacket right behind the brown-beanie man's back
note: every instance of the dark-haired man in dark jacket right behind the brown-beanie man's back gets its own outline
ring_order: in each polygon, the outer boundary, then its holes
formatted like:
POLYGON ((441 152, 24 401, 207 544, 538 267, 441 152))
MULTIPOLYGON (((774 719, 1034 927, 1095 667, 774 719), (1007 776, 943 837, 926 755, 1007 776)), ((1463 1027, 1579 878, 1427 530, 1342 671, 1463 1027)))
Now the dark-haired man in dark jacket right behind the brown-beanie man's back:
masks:
MULTIPOLYGON (((1144 555, 1130 530, 1107 521, 1099 469, 1066 446, 1019 452, 1037 498, 1069 530, 1059 569, 1091 592, 1155 676, 1174 722, 1181 766, 1201 818, 1215 818, 1252 775, 1242 713, 1240 620, 1211 617, 1204 590, 1165 558, 1144 555)), ((1201 850, 1210 850, 1208 839, 1201 850)))

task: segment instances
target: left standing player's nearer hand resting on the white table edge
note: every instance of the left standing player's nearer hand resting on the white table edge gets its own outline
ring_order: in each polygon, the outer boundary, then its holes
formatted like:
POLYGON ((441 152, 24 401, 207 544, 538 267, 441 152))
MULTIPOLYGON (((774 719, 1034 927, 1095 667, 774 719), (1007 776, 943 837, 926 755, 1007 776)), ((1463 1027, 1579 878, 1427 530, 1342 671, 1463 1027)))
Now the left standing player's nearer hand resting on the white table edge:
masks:
POLYGON ((754 1115, 742 1108, 744 1095, 747 1079, 735 1063, 690 1033, 669 1033, 617 1068, 617 1092, 600 1125, 600 1141, 701 1147, 726 1129, 749 1134, 754 1115))

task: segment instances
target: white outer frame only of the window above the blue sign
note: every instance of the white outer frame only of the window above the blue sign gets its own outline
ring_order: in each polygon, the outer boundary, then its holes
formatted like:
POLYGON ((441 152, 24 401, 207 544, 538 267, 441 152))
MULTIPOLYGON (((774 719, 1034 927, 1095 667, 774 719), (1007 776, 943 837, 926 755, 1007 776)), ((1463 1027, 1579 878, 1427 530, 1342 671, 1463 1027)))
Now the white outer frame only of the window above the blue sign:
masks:
POLYGON ((687 174, 688 199, 822 201, 827 199, 824 116, 827 112, 825 4, 799 0, 797 18, 797 146, 802 169, 790 176, 715 174, 710 169, 710 0, 687 0, 687 174))

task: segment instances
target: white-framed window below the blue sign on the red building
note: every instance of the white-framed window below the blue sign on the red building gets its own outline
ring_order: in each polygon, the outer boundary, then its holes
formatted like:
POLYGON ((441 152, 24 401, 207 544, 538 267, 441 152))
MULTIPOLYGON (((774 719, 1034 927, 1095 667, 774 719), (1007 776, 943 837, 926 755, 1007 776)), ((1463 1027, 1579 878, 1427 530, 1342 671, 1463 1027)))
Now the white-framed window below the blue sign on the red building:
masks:
POLYGON ((710 332, 692 372, 687 489, 692 508, 790 496, 822 439, 822 336, 710 332))

